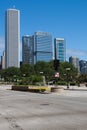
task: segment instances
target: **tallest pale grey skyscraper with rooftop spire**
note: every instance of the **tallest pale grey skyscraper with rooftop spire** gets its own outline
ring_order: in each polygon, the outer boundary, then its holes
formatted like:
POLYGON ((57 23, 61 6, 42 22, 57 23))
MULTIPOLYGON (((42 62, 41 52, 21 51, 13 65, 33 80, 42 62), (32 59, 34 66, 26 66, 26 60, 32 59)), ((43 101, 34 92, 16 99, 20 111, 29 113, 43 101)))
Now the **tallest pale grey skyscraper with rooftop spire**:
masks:
POLYGON ((8 9, 5 14, 5 64, 8 67, 20 67, 20 11, 8 9))

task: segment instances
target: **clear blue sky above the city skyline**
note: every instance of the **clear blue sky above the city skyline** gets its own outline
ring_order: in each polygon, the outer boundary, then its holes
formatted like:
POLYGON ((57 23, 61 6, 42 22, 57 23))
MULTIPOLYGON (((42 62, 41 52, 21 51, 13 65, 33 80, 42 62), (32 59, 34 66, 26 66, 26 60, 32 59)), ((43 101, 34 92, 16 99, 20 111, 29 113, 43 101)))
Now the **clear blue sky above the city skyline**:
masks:
POLYGON ((51 32, 66 40, 66 58, 87 60, 86 0, 0 0, 0 55, 4 50, 5 11, 20 10, 21 37, 35 31, 51 32))

